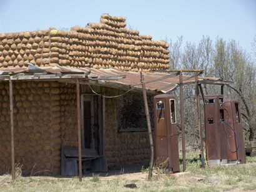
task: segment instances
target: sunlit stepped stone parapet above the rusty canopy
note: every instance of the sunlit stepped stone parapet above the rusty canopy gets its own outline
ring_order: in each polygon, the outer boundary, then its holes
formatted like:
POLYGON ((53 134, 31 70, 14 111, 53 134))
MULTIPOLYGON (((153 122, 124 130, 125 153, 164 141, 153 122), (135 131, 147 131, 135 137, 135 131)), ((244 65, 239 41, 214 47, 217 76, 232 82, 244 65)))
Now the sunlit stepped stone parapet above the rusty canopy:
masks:
POLYGON ((169 68, 169 44, 126 28, 126 19, 102 15, 99 23, 71 31, 0 34, 0 69, 64 65, 121 70, 169 68))

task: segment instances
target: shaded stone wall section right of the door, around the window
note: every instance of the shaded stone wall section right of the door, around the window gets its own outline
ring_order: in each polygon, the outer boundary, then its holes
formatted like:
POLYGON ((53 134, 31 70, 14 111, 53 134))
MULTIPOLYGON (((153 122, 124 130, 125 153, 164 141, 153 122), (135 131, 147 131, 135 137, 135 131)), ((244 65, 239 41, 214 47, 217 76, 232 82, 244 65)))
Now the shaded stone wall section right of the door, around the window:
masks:
MULTIPOLYGON (((113 91, 110 93, 108 95, 115 95, 113 91)), ((118 131, 117 100, 114 98, 106 98, 105 126, 105 153, 109 168, 149 162, 150 148, 147 132, 118 131)))

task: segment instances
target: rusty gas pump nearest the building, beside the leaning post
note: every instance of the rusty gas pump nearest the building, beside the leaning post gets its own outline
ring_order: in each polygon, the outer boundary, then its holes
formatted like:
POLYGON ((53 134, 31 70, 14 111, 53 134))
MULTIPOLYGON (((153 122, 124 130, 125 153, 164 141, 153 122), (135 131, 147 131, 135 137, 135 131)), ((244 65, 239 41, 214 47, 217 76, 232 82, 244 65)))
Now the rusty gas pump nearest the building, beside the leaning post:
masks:
POLYGON ((175 98, 162 94, 154 97, 155 162, 172 173, 179 172, 179 140, 175 98))

